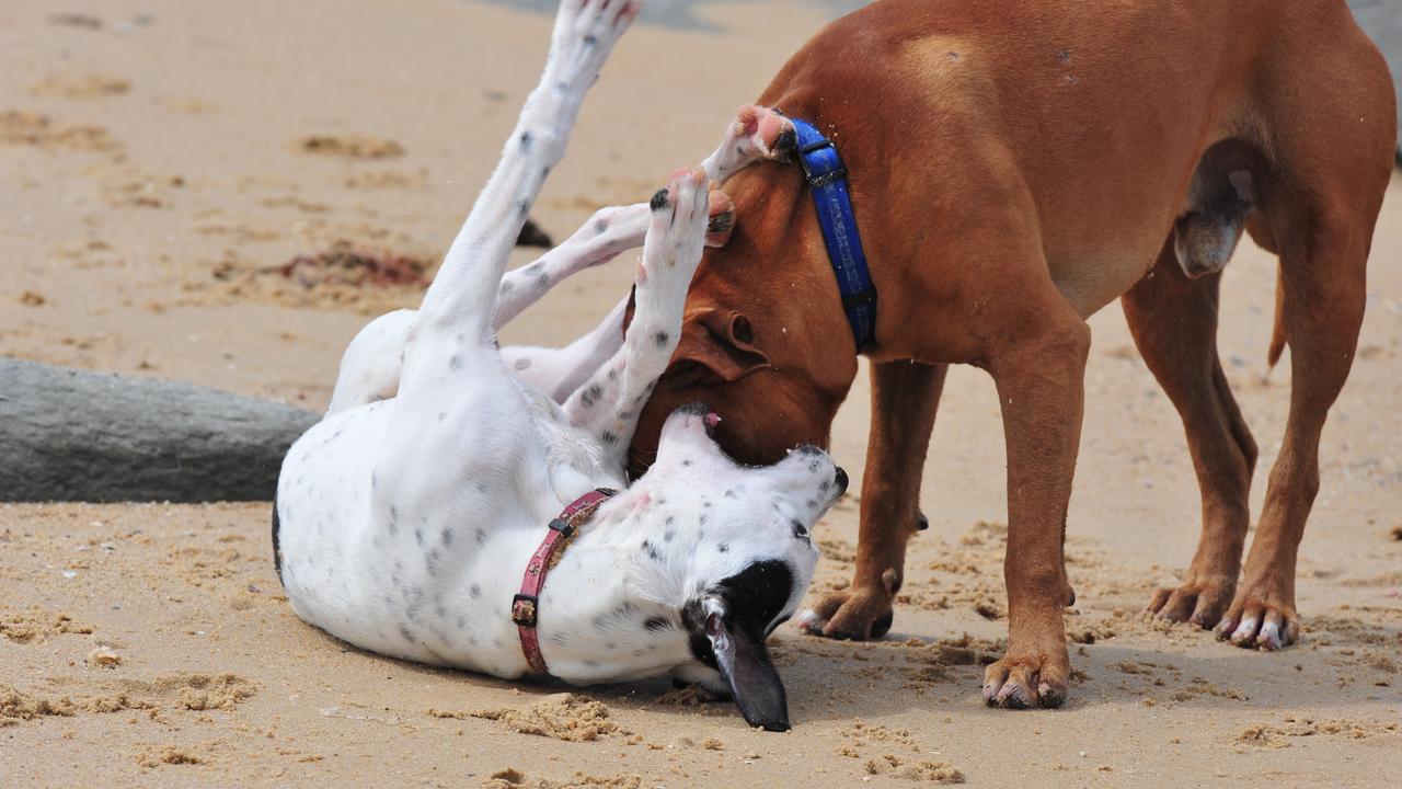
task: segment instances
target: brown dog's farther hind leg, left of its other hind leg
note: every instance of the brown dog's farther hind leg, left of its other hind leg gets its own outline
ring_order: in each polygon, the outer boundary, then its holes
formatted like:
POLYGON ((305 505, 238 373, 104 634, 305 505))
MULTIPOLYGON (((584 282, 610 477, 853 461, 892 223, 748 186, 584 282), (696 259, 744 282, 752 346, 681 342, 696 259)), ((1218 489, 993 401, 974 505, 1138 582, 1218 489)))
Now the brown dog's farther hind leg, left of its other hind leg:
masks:
POLYGON ((1147 614, 1213 628, 1237 591, 1242 545, 1251 524, 1256 442, 1217 358, 1221 277, 1189 279, 1165 244, 1154 270, 1122 305, 1134 344, 1173 402, 1202 491, 1203 531, 1178 588, 1159 588, 1147 614))

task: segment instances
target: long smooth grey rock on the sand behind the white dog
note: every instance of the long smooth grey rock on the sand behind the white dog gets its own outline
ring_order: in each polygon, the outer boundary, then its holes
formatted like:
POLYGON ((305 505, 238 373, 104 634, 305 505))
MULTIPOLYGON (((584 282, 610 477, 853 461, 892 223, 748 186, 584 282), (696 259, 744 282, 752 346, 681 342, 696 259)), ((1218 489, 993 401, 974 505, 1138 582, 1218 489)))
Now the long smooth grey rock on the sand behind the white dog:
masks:
POLYGON ((266 501, 320 414, 0 358, 0 501, 266 501))

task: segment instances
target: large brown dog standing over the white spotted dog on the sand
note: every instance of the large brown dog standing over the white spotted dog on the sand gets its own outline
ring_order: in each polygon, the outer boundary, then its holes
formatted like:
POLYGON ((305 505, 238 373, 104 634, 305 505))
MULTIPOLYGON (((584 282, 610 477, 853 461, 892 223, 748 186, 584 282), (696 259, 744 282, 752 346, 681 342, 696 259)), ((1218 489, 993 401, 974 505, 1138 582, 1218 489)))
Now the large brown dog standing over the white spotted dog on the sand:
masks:
MULTIPOLYGON (((1122 298, 1182 414, 1203 494, 1186 580, 1150 609, 1288 644, 1295 549, 1325 416, 1353 361, 1396 139, 1392 80, 1343 0, 882 0, 809 42, 760 97, 830 136, 879 292, 857 577, 812 626, 890 626, 949 364, 993 375, 1008 451, 1008 651, 984 695, 1057 706, 1063 566, 1087 316, 1122 298), (1216 350, 1218 271, 1242 229, 1280 256, 1290 418, 1245 580, 1256 446, 1216 350)), ((729 185, 742 225, 708 254, 634 445, 705 400, 739 459, 826 444, 857 373, 801 168, 729 185)))

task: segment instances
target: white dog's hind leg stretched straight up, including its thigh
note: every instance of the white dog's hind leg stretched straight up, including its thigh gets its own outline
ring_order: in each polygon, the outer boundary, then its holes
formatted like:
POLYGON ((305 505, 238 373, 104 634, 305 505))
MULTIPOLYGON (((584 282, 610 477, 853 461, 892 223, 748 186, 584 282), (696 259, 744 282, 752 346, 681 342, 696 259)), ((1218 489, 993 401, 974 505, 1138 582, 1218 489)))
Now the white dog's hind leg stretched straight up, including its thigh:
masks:
POLYGON ((585 93, 638 6, 561 3, 540 84, 409 331, 370 479, 379 518, 393 522, 398 508, 423 521, 484 505, 491 500, 485 489, 461 484, 472 475, 519 475, 515 484, 538 484, 531 477, 543 472, 536 460, 548 441, 534 427, 533 392, 502 368, 492 331, 496 289, 541 184, 564 156, 585 93))

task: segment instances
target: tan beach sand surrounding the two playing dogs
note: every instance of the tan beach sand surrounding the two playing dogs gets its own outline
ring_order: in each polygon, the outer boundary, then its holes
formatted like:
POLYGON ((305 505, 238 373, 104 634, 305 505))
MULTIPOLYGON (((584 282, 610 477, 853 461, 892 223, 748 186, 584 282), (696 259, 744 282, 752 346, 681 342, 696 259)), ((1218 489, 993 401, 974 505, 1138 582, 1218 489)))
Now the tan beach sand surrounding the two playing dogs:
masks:
MULTIPOLYGON (((419 285, 306 288, 278 270, 299 256, 432 265, 536 79, 548 17, 450 0, 140 10, 0 8, 0 354, 320 409, 366 316, 415 303, 419 285)), ((785 0, 688 14, 707 24, 644 25, 618 48, 534 211, 557 239, 698 160, 822 24, 785 0)), ((858 644, 781 629, 788 734, 665 681, 512 685, 350 649, 290 612, 266 504, 0 505, 0 785, 1389 785, 1402 769, 1399 256, 1402 181, 1325 432, 1297 647, 1244 651, 1138 619, 1192 556, 1199 504, 1178 418, 1112 306, 1092 320, 1063 710, 979 701, 1005 632, 1004 456, 990 380, 959 369, 894 633, 858 644)), ((506 340, 578 336, 629 277, 620 264, 571 279, 506 340)), ((1258 511, 1291 375, 1288 361, 1265 369, 1273 288, 1253 248, 1225 275, 1221 350, 1262 446, 1258 511)), ((858 378, 833 446, 854 491, 866 407, 858 378)), ((850 576, 855 535, 852 494, 817 526, 815 590, 850 576)))

